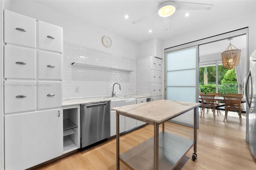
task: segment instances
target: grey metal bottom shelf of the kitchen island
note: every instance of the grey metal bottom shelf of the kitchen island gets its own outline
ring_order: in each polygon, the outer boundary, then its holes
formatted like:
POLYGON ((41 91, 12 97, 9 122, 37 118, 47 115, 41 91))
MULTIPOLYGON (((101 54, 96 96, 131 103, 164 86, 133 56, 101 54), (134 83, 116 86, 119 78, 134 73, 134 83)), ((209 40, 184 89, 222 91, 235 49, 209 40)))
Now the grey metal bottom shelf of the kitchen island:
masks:
MULTIPOLYGON (((172 169, 194 146, 194 141, 166 131, 159 133, 159 170, 172 169)), ((131 169, 154 169, 154 136, 119 157, 131 169)))

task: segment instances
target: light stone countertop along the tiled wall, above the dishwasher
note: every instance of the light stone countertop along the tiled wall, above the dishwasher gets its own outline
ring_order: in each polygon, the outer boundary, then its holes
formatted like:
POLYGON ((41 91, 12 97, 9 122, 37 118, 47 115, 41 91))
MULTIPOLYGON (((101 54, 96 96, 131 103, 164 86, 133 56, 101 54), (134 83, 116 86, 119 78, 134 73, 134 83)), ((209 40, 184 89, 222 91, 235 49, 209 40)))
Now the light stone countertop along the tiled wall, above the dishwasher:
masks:
MULTIPOLYGON (((116 96, 114 98, 118 97, 131 97, 131 98, 147 98, 151 97, 149 95, 140 95, 140 94, 132 94, 132 95, 122 95, 122 96, 116 96)), ((100 102, 100 101, 110 101, 111 97, 85 97, 85 98, 77 98, 77 99, 63 99, 62 100, 62 106, 71 106, 71 105, 80 105, 85 103, 94 103, 94 102, 100 102)))

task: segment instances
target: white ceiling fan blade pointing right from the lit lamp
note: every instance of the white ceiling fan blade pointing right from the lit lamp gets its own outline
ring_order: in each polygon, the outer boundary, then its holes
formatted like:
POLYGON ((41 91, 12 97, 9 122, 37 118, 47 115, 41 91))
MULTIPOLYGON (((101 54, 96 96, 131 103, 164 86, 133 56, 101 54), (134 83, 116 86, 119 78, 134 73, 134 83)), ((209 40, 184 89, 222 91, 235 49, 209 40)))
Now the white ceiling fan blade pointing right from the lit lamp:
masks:
POLYGON ((176 10, 210 10, 212 4, 199 4, 193 2, 177 1, 176 10))

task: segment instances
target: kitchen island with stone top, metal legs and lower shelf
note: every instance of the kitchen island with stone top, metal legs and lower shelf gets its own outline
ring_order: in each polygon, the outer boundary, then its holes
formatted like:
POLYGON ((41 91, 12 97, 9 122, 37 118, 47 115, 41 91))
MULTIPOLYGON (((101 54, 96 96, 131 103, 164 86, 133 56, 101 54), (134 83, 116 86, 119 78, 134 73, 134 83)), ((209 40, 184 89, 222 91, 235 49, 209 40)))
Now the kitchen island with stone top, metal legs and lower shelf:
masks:
POLYGON ((116 110, 116 169, 122 161, 130 169, 173 169, 194 146, 196 154, 197 107, 200 103, 159 100, 136 105, 112 108, 116 110), (164 122, 194 109, 194 140, 164 131, 164 122), (154 125, 154 137, 119 155, 119 115, 154 125), (162 132, 158 132, 159 125, 162 132))

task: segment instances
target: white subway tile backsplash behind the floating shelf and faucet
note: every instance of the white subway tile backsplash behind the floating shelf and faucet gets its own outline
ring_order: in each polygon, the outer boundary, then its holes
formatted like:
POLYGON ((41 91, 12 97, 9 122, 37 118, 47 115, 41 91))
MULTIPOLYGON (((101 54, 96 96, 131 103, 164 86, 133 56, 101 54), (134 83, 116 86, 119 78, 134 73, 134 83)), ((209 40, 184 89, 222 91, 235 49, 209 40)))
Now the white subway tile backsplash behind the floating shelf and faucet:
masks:
POLYGON ((114 83, 121 85, 121 91, 115 85, 116 95, 136 93, 136 60, 69 43, 64 43, 63 57, 63 99, 110 96, 114 83), (126 73, 72 66, 73 62, 134 71, 126 73), (76 93, 75 87, 80 87, 79 93, 76 93))

